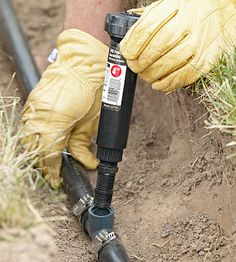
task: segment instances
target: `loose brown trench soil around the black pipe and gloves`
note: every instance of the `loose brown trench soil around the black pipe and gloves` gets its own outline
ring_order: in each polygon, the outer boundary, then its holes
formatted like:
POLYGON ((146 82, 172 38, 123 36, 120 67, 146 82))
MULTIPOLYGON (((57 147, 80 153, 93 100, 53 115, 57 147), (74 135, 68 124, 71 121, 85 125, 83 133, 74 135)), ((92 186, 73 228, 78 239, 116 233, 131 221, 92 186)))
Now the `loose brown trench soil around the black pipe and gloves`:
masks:
MULTIPOLYGON (((61 28, 63 1, 14 2, 34 54, 45 57, 61 28)), ((0 59, 8 83, 9 63, 0 59)), ((113 202, 131 261, 236 261, 235 165, 226 160, 228 138, 209 134, 206 117, 191 90, 165 95, 139 82, 113 202)), ((55 261, 94 261, 65 207, 63 193, 47 206, 47 215, 68 218, 52 225, 55 261)))

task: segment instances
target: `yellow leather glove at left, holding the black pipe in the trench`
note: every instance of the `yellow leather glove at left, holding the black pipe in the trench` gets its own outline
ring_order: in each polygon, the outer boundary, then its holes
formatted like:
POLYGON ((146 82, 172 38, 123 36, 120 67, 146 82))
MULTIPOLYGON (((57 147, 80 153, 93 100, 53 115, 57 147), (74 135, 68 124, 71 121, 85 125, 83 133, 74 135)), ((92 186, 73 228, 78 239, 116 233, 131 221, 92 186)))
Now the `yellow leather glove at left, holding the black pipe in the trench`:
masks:
POLYGON ((67 147, 86 168, 97 161, 89 150, 97 130, 108 47, 77 29, 57 41, 58 57, 43 73, 22 112, 22 142, 39 148, 43 174, 58 188, 61 152, 67 147))

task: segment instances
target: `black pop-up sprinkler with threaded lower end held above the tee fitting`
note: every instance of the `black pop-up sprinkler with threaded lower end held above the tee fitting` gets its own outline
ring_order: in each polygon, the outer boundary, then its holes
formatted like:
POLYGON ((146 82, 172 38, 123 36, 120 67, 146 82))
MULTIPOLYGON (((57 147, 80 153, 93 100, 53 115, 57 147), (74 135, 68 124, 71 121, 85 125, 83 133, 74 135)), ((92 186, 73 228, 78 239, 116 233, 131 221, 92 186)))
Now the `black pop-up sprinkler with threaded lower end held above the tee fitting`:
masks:
POLYGON ((106 17, 105 30, 111 45, 97 137, 100 163, 94 197, 94 205, 101 209, 111 205, 117 163, 122 160, 127 146, 137 75, 128 68, 121 55, 120 42, 137 20, 138 16, 128 13, 106 17))

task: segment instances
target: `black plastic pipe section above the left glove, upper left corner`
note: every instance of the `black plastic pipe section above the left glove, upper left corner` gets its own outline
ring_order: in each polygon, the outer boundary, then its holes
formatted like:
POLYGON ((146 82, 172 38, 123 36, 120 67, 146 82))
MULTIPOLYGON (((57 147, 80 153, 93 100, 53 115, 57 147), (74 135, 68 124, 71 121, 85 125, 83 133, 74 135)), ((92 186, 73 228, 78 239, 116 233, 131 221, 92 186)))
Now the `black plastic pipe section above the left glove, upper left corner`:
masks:
POLYGON ((13 59, 16 76, 22 86, 24 96, 27 97, 38 83, 40 74, 10 0, 0 0, 0 25, 1 37, 13 59))

